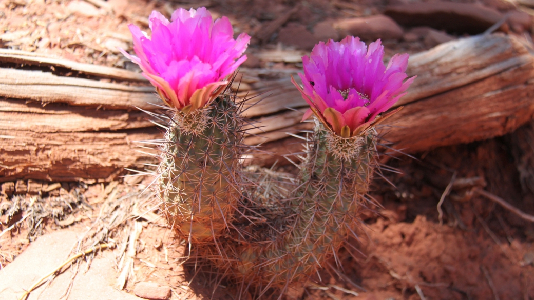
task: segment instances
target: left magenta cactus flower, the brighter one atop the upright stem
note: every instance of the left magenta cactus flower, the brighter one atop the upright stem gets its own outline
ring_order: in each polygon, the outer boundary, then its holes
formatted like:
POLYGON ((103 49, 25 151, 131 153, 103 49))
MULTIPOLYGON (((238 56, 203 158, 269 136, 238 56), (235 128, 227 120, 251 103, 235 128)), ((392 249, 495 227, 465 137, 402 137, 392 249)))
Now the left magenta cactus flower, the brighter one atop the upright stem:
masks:
POLYGON ((148 18, 152 38, 130 24, 138 64, 170 107, 188 112, 206 106, 228 83, 227 78, 247 57, 250 37, 233 39, 226 17, 211 19, 206 7, 178 9, 171 21, 153 11, 148 18))

